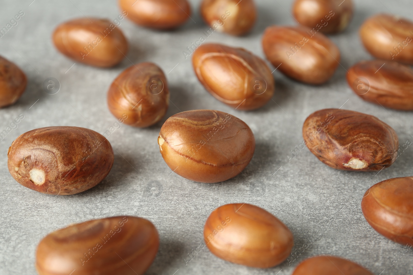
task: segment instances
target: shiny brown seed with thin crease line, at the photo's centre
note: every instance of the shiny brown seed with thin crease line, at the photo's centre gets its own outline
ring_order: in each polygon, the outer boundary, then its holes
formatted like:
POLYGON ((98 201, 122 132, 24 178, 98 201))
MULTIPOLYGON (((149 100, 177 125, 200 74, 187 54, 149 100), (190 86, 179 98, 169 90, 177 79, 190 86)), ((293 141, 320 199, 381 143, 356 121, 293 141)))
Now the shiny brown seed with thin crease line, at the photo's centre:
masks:
POLYGON ((252 159, 255 139, 242 120, 215 110, 171 116, 161 127, 159 150, 176 174, 216 183, 242 173, 252 159))

